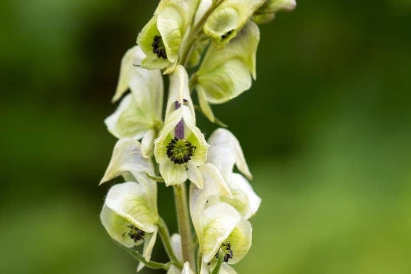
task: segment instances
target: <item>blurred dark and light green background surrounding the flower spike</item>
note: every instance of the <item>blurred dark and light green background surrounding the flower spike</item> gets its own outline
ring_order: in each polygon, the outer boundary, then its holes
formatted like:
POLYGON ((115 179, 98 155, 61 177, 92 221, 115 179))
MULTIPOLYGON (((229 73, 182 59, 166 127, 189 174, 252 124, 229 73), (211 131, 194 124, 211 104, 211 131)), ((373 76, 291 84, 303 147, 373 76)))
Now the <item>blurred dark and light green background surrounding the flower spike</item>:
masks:
MULTIPOLYGON (((100 225, 109 185, 98 182, 120 59, 156 4, 0 4, 0 273, 135 272, 100 225)), ((297 4, 261 26, 252 89, 214 107, 263 198, 235 268, 411 273, 411 2, 297 4)), ((175 231, 171 195, 160 187, 175 231)), ((154 258, 165 260, 160 244, 154 258)))

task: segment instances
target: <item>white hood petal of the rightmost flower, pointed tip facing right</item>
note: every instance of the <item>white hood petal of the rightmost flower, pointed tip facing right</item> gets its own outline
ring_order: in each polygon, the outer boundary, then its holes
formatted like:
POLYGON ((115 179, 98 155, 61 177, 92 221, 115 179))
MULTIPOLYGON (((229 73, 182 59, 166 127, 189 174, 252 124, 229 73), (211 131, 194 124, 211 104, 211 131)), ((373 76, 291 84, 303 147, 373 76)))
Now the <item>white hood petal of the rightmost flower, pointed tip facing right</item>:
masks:
POLYGON ((246 177, 252 179, 240 143, 234 134, 226 129, 217 129, 211 134, 209 143, 207 162, 213 163, 227 181, 230 179, 234 165, 246 177))

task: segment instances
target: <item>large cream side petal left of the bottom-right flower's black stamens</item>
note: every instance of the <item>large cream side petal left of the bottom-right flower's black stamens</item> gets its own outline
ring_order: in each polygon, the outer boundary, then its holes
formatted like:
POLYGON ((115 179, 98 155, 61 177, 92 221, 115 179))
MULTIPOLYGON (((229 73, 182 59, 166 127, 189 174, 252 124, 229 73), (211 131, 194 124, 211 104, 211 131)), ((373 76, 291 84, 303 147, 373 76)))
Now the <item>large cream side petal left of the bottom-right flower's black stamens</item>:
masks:
POLYGON ((229 204, 217 203, 203 211, 201 221, 202 234, 197 234, 198 242, 203 261, 210 262, 241 221, 241 216, 229 204))

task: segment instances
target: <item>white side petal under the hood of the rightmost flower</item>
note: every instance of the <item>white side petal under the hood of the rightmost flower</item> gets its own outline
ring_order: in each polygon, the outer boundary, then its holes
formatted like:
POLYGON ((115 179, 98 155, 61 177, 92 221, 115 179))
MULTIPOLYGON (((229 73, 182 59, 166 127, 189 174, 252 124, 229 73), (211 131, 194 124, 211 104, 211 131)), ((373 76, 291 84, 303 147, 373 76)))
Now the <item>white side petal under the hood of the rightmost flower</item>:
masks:
POLYGON ((234 199, 223 197, 221 200, 233 206, 242 217, 248 220, 257 212, 261 198, 255 194, 250 183, 241 174, 232 173, 228 185, 234 199))

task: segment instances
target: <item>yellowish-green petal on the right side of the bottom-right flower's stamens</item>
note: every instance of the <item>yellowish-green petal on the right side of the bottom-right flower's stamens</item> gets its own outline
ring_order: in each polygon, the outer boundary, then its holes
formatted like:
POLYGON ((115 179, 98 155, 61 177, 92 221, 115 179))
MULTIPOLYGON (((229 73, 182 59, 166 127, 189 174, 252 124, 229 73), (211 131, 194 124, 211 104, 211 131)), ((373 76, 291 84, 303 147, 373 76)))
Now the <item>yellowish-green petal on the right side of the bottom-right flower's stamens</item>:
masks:
POLYGON ((250 222, 241 219, 227 239, 233 251, 233 258, 228 261, 229 264, 238 263, 247 254, 251 247, 251 234, 252 227, 250 222))

